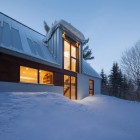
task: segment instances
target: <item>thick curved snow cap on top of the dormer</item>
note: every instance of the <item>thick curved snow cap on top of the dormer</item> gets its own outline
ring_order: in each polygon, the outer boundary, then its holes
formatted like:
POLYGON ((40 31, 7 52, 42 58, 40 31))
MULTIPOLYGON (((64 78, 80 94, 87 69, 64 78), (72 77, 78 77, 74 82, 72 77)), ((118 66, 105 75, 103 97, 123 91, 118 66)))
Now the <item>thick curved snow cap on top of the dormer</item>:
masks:
POLYGON ((58 28, 61 27, 63 31, 65 31, 66 33, 68 33, 71 36, 74 36, 76 38, 76 40, 80 41, 80 42, 84 42, 85 41, 85 37, 84 35, 77 30, 74 26, 72 26, 70 23, 68 23, 67 21, 61 19, 59 21, 55 21, 55 23, 52 25, 52 27, 49 30, 48 35, 46 36, 46 40, 48 40, 52 33, 58 28))

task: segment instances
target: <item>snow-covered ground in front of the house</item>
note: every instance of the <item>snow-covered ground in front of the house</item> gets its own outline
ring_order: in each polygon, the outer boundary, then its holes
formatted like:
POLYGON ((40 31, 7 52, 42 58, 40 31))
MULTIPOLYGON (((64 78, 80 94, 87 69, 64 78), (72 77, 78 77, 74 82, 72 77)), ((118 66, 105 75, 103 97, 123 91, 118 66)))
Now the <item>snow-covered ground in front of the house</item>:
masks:
POLYGON ((0 140, 140 140, 140 103, 96 95, 0 93, 0 140))

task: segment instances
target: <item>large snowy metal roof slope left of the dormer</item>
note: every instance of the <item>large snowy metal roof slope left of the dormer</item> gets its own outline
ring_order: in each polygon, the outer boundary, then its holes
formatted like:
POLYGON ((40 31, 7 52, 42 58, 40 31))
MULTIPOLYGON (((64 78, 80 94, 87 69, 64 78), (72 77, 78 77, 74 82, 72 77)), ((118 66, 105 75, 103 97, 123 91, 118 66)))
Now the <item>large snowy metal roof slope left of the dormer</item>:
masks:
POLYGON ((40 33, 0 13, 1 52, 56 66, 43 39, 40 33))

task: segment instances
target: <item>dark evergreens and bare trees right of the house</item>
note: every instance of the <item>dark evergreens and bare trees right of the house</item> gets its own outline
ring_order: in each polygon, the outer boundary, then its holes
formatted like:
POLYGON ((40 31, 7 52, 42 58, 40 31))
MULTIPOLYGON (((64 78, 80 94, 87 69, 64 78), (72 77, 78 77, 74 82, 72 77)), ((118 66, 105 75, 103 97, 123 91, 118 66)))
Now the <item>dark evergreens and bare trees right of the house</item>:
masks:
POLYGON ((109 75, 103 69, 100 75, 102 94, 140 101, 140 42, 122 54, 120 66, 114 62, 109 75))

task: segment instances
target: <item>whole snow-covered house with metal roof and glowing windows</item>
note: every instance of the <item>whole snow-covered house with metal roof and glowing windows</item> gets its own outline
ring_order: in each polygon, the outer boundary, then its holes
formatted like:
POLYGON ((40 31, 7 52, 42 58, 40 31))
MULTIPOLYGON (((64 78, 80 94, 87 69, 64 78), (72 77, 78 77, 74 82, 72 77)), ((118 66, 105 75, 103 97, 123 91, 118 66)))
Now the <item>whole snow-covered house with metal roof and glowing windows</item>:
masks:
POLYGON ((82 57, 86 41, 64 20, 44 36, 0 13, 0 91, 99 94, 101 78, 82 57))

